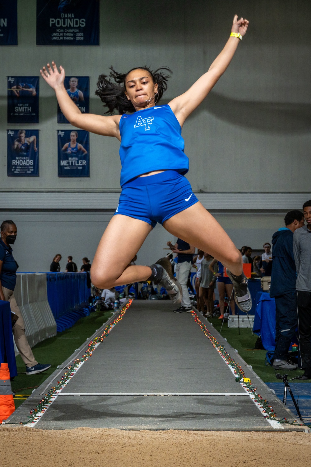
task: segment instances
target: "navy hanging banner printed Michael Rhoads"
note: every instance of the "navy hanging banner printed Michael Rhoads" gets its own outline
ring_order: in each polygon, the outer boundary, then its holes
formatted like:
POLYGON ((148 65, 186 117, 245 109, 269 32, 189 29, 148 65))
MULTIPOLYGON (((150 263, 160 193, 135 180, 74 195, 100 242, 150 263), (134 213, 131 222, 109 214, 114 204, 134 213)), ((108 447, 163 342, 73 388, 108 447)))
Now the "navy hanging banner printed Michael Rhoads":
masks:
POLYGON ((7 176, 39 177, 39 130, 7 130, 7 176))

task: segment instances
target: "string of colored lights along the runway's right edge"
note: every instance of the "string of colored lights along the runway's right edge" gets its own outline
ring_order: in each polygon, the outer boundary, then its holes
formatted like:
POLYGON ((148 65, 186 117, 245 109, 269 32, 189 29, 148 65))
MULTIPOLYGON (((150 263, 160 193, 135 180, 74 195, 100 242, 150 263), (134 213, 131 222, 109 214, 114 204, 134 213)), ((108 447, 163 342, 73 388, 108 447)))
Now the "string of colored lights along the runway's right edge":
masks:
POLYGON ((259 407, 263 412, 263 416, 270 420, 276 420, 279 423, 288 423, 290 425, 302 426, 302 424, 297 423, 297 420, 289 422, 286 418, 276 419, 276 413, 271 405, 269 405, 268 401, 263 399, 260 394, 256 394, 257 388, 252 385, 249 378, 245 378, 245 374, 241 365, 239 365, 239 363, 235 363, 234 359, 228 354, 228 352, 226 352, 225 347, 218 342, 218 340, 208 331, 206 325, 200 321, 198 315, 194 311, 191 311, 191 314, 194 317, 194 321, 200 326, 203 333, 206 335, 206 337, 208 337, 215 349, 221 354, 221 357, 224 359, 227 365, 233 369, 235 374, 235 381, 242 384, 243 388, 246 389, 246 391, 252 396, 253 401, 259 404, 259 407))

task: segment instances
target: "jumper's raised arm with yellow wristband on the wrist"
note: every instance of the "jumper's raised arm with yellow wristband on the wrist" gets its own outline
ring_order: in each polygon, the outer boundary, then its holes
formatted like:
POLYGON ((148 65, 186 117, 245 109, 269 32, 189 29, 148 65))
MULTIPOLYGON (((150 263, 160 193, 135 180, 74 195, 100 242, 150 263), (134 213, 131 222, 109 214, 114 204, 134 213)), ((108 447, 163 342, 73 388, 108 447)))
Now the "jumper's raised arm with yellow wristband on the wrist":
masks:
MULTIPOLYGON (((237 14, 234 17, 231 32, 246 34, 249 21, 241 18, 237 21, 237 14)), ((209 67, 207 73, 201 76, 188 91, 169 102, 169 106, 176 115, 177 120, 182 126, 187 117, 196 109, 206 98, 207 94, 217 83, 221 75, 227 70, 235 50, 240 42, 238 37, 230 36, 221 53, 215 58, 209 67)))

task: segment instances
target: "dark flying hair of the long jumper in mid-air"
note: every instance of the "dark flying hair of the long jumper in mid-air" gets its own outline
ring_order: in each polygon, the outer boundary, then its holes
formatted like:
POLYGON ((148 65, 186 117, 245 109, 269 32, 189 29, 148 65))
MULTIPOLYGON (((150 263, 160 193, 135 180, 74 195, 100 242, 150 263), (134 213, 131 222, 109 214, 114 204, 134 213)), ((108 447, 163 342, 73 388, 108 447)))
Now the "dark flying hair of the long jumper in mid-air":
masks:
POLYGON ((154 84, 158 84, 158 99, 159 101, 163 95, 163 92, 167 89, 167 80, 170 75, 164 74, 164 71, 172 73, 172 71, 166 66, 162 66, 157 70, 150 70, 147 66, 137 66, 132 68, 127 73, 118 73, 110 67, 109 77, 107 75, 99 75, 97 82, 97 90, 95 94, 99 96, 104 102, 104 106, 108 107, 109 110, 105 113, 112 113, 117 110, 119 114, 125 112, 135 112, 135 107, 130 100, 125 96, 125 79, 127 75, 133 70, 146 70, 150 74, 154 84), (114 81, 112 81, 112 79, 114 81))

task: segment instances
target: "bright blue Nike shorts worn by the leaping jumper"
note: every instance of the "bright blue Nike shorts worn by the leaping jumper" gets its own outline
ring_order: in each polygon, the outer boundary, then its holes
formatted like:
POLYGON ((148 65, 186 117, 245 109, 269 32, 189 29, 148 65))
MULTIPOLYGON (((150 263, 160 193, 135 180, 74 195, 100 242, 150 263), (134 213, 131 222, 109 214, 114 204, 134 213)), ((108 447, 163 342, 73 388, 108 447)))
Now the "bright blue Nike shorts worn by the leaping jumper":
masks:
POLYGON ((187 178, 176 170, 165 170, 124 184, 114 215, 144 220, 153 228, 197 202, 187 178))

